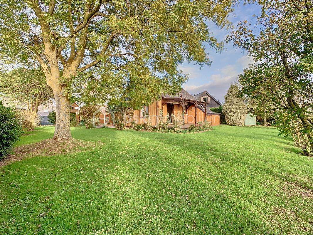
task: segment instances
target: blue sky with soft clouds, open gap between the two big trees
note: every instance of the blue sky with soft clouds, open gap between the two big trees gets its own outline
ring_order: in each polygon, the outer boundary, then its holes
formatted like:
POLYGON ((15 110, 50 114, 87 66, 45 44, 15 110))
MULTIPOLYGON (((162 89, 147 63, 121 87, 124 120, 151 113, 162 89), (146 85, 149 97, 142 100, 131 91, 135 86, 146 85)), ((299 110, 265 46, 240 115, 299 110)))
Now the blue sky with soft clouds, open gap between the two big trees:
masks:
MULTIPOLYGON (((233 23, 235 29, 239 21, 247 20, 253 23, 253 15, 260 12, 260 7, 257 4, 245 5, 239 3, 234 7, 234 12, 230 14, 229 20, 233 23)), ((213 33, 213 36, 218 41, 224 41, 229 31, 216 27, 212 22, 206 22, 213 33)), ((195 95, 202 91, 208 91, 214 98, 220 102, 224 102, 224 96, 230 84, 237 81, 238 75, 243 69, 252 63, 252 59, 247 56, 247 53, 242 49, 233 47, 232 43, 224 41, 222 53, 217 53, 206 46, 206 52, 209 54, 209 59, 213 61, 211 66, 203 66, 200 69, 199 65, 194 63, 184 63, 179 66, 183 74, 189 74, 189 80, 182 86, 190 94, 195 95)))

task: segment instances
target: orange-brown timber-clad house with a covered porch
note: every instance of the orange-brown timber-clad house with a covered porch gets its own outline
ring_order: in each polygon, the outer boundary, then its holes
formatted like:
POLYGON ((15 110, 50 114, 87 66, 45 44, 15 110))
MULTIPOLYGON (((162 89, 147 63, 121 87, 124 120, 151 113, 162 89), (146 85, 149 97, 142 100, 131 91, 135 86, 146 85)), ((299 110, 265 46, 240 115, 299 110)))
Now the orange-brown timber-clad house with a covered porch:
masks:
POLYGON ((159 101, 152 102, 150 105, 135 110, 130 121, 142 124, 144 123, 144 112, 148 112, 151 118, 151 124, 155 126, 158 122, 157 116, 159 115, 159 110, 162 109, 163 116, 169 115, 171 117, 172 115, 176 116, 178 112, 182 113, 183 107, 185 107, 185 113, 183 115, 185 124, 194 124, 207 120, 212 126, 219 125, 220 113, 212 112, 208 108, 209 103, 210 101, 198 99, 182 89, 176 96, 162 95, 159 101))

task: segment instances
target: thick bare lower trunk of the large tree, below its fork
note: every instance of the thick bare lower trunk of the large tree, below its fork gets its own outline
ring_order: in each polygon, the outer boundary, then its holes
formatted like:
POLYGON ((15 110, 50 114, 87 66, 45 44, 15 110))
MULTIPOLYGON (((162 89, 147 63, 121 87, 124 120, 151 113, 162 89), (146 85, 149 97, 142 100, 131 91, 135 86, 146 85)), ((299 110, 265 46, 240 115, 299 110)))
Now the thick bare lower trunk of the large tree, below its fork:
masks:
POLYGON ((69 117, 69 98, 61 87, 57 87, 53 91, 56 103, 56 123, 54 130, 55 140, 67 140, 72 138, 70 131, 70 117, 69 117))

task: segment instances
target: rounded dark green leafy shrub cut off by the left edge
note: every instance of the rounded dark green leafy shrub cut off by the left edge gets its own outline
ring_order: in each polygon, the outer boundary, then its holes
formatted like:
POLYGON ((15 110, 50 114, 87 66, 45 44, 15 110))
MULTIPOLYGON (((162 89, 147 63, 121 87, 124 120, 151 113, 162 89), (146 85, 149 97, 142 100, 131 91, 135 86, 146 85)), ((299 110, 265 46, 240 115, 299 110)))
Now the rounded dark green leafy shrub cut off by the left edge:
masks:
POLYGON ((21 124, 16 113, 0 102, 0 160, 10 153, 21 135, 21 124))

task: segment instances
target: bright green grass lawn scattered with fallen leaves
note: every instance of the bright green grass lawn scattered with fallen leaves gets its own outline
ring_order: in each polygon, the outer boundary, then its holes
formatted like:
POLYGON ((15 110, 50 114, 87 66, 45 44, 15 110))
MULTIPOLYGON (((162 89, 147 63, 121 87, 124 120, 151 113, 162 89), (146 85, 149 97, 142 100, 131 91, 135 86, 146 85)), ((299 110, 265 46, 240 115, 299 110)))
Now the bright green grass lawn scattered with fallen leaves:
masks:
POLYGON ((312 234, 312 160, 275 128, 72 135, 97 145, 0 168, 0 234, 312 234))

